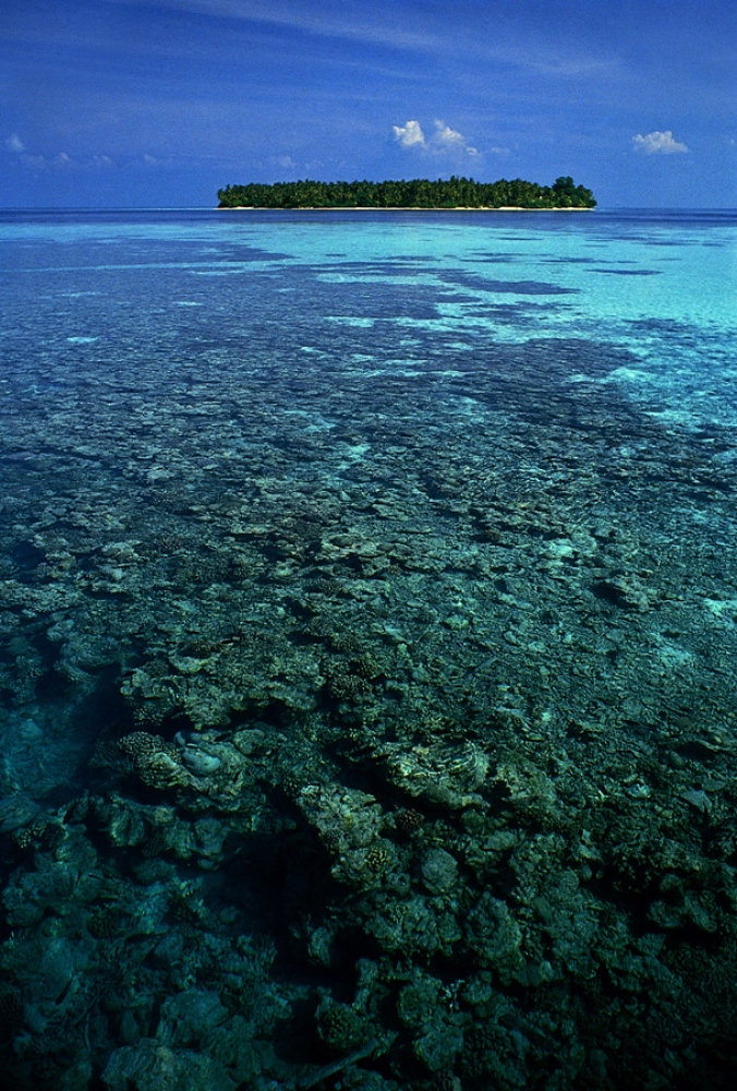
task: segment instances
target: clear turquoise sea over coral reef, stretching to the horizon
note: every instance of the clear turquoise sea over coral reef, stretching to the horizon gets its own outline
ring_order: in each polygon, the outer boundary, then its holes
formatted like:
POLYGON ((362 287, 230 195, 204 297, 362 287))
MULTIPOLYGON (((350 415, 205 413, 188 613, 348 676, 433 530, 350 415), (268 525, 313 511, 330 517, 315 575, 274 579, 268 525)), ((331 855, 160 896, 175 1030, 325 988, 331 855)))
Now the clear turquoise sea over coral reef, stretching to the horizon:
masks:
POLYGON ((728 1086, 736 237, 0 217, 11 1087, 728 1086))

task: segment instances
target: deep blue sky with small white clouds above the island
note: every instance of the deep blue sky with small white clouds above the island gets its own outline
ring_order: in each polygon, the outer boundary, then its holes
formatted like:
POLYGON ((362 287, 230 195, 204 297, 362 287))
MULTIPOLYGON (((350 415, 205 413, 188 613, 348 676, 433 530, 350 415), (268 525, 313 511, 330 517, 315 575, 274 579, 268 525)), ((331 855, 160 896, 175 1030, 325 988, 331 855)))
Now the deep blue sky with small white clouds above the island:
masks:
POLYGON ((572 175, 737 206, 735 0, 2 0, 0 206, 572 175))

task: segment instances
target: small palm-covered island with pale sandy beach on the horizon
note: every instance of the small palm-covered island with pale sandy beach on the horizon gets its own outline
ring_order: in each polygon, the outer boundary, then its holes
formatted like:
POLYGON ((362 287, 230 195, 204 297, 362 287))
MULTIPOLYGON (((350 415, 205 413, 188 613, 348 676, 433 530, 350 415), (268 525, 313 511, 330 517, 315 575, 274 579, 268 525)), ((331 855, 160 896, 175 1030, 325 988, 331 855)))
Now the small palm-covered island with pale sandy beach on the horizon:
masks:
POLYGON ((476 182, 472 178, 384 182, 250 182, 218 190, 218 208, 593 208, 591 190, 570 176, 553 185, 521 178, 476 182))

